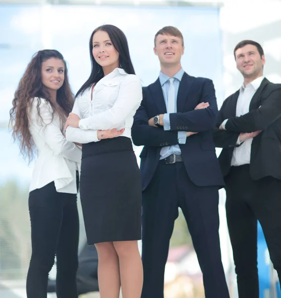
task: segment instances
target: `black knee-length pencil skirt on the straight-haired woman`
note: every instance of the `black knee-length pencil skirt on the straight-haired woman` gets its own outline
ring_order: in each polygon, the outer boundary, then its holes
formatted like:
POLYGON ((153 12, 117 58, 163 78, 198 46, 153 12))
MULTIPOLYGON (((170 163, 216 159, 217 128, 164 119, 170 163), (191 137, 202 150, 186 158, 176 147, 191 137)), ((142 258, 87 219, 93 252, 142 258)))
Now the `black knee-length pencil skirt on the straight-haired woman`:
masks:
POLYGON ((131 139, 83 145, 80 197, 88 244, 141 239, 141 174, 131 139))

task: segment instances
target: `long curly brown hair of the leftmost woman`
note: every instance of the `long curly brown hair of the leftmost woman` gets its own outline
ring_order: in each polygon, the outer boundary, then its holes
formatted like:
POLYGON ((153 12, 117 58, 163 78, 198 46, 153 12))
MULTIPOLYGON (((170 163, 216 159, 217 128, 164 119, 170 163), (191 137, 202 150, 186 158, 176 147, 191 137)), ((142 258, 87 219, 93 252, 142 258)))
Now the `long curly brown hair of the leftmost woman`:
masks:
POLYGON ((41 118, 42 126, 43 119, 40 115, 40 104, 41 100, 46 100, 52 107, 52 117, 54 118, 55 113, 59 116, 62 130, 64 122, 72 110, 74 95, 69 84, 67 64, 60 52, 56 50, 42 50, 35 53, 19 81, 12 100, 9 122, 12 126, 12 137, 14 141, 18 141, 21 154, 24 158, 28 158, 29 162, 33 159, 35 152, 34 141, 29 130, 28 118, 28 113, 32 107, 34 98, 38 98, 37 112, 41 118), (60 59, 65 64, 64 83, 57 91, 58 105, 52 103, 50 93, 48 89, 44 87, 41 78, 42 63, 50 58, 60 59))

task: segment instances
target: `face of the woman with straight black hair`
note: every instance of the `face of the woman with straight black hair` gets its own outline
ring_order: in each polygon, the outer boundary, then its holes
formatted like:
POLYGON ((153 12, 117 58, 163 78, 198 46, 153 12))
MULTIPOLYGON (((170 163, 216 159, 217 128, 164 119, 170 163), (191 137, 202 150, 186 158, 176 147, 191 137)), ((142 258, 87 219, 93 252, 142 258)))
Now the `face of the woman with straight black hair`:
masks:
POLYGON ((93 35, 92 42, 93 57, 104 71, 104 68, 114 70, 119 67, 119 53, 114 48, 107 32, 97 31, 93 35))

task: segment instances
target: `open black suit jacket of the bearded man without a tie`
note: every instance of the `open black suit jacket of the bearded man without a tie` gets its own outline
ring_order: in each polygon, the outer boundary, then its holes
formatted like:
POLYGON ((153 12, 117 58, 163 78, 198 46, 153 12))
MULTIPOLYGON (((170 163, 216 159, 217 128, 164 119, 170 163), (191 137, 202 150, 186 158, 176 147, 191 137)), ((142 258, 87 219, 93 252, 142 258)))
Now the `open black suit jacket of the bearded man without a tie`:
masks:
POLYGON ((218 158, 223 176, 229 172, 239 134, 262 130, 252 142, 251 177, 254 180, 265 176, 281 179, 281 84, 264 78, 250 102, 249 113, 240 117, 236 117, 238 96, 239 90, 225 99, 213 130, 215 146, 223 148, 218 158), (228 119, 226 130, 219 130, 225 119, 228 119))

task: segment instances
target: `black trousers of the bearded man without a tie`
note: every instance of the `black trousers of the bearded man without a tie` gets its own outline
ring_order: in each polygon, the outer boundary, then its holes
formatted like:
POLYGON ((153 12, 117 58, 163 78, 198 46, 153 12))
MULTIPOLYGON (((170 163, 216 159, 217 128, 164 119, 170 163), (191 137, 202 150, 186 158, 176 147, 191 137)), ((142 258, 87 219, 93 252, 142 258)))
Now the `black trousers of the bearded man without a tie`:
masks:
POLYGON ((226 216, 239 298, 259 298, 257 221, 281 278, 281 181, 270 176, 254 181, 247 164, 232 166, 225 184, 226 216))

